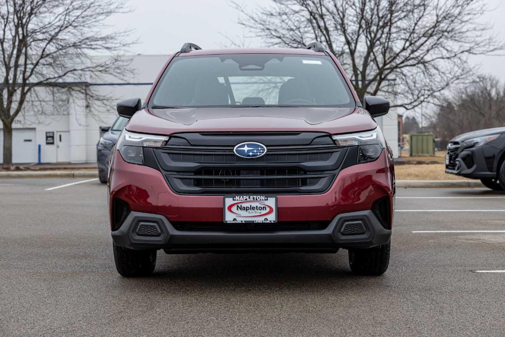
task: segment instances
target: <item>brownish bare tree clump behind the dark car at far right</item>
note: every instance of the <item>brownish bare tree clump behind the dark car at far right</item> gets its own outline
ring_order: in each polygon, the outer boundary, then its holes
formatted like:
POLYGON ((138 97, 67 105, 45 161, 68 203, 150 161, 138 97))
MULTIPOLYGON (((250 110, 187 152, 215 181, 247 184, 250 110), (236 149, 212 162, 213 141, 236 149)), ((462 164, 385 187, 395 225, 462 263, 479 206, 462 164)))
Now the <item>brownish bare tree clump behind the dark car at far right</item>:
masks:
POLYGON ((479 76, 444 101, 430 123, 443 143, 464 132, 505 126, 505 84, 495 77, 479 76))

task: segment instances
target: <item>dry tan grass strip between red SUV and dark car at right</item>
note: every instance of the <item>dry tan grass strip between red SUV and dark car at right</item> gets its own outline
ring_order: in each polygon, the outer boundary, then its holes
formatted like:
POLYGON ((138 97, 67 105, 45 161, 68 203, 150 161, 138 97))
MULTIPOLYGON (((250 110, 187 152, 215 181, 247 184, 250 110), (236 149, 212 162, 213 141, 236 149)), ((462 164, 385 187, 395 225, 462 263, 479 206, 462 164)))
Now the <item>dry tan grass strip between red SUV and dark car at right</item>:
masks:
POLYGON ((445 173, 444 164, 396 165, 394 173, 398 180, 463 180, 466 178, 445 173))

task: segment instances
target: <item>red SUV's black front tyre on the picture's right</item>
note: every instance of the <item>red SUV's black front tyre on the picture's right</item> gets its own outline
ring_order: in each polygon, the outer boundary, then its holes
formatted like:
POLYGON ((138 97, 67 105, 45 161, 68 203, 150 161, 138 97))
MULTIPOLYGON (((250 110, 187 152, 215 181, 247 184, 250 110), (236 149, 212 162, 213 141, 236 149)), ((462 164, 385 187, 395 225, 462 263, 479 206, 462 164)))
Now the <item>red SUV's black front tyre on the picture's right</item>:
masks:
POLYGON ((361 275, 382 275, 389 266, 391 244, 368 249, 349 249, 349 266, 361 275))

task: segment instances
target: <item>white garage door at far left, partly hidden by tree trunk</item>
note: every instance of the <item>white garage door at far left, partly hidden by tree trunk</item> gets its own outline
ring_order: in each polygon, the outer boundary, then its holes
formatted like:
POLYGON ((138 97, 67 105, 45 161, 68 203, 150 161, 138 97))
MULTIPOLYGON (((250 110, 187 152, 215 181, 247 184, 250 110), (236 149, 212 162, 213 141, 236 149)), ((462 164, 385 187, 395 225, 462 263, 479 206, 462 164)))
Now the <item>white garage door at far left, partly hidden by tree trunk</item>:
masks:
MULTIPOLYGON (((0 163, 4 161, 4 133, 0 129, 0 163)), ((12 131, 12 162, 28 164, 37 162, 35 129, 14 129, 12 131)))

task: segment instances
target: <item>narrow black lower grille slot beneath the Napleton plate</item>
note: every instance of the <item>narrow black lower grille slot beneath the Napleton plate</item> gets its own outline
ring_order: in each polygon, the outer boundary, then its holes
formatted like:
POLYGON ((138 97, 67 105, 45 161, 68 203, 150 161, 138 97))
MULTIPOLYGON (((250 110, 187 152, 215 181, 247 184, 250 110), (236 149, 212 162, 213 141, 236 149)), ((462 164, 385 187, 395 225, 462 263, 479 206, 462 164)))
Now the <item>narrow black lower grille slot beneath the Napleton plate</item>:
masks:
POLYGON ((223 222, 170 222, 175 229, 183 231, 283 231, 283 230, 323 230, 330 221, 281 221, 275 223, 223 223, 223 222))

